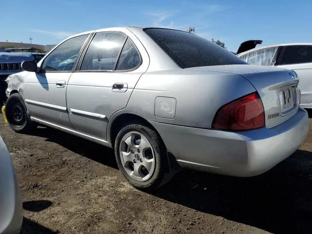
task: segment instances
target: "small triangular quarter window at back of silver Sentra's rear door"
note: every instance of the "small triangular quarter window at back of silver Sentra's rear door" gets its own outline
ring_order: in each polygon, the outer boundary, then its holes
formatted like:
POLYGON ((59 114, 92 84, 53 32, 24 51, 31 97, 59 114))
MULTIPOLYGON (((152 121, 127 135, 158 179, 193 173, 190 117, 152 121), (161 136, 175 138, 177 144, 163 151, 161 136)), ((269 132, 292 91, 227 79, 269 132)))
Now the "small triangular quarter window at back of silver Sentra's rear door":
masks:
POLYGON ((116 70, 130 70, 141 63, 137 47, 130 38, 127 39, 118 59, 116 70))

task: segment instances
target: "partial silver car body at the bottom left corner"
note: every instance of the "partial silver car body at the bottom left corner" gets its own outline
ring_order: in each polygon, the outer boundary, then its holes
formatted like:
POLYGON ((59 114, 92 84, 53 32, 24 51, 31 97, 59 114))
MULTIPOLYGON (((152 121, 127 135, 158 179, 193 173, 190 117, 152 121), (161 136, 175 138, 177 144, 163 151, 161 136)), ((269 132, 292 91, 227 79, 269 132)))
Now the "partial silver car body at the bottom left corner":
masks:
POLYGON ((10 154, 0 137, 0 234, 19 234, 22 219, 20 187, 10 154))

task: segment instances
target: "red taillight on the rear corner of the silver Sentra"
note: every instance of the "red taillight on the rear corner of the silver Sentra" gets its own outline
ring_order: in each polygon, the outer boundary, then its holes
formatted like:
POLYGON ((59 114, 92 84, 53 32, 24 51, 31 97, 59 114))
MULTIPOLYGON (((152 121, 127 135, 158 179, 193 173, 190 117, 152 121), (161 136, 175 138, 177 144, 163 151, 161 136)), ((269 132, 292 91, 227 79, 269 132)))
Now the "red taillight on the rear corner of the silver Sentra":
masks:
POLYGON ((257 93, 234 100, 215 114, 212 127, 221 130, 244 131, 265 126, 264 110, 257 93))

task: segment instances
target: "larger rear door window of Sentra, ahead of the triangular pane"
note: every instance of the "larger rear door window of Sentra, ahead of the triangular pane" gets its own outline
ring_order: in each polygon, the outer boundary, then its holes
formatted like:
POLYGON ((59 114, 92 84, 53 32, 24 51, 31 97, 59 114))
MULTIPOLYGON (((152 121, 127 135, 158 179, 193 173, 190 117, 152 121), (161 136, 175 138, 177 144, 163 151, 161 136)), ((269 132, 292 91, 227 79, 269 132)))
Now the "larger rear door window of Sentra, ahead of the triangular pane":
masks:
POLYGON ((101 32, 92 39, 83 58, 81 71, 112 71, 127 39, 121 32, 101 32))

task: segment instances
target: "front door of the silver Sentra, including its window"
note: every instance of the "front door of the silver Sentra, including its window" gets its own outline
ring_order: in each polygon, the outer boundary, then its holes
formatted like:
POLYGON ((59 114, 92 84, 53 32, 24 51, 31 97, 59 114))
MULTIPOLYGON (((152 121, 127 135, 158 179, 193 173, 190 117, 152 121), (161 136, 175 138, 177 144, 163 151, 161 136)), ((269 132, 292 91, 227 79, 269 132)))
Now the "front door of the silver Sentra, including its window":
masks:
POLYGON ((73 74, 76 59, 89 34, 68 39, 59 44, 40 62, 38 73, 30 72, 24 83, 23 96, 32 118, 64 128, 72 128, 66 108, 66 87, 73 74))

